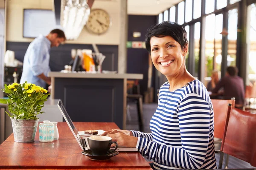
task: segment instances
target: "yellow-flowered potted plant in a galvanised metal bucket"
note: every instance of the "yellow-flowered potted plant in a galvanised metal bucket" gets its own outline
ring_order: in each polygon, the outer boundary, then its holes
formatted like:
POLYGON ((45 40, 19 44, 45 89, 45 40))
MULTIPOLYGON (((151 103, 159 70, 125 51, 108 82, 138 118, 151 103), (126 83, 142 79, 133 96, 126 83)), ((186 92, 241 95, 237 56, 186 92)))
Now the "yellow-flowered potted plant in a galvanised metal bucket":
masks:
POLYGON ((37 115, 44 113, 41 109, 49 96, 48 91, 27 82, 5 84, 2 90, 8 94, 8 99, 0 99, 0 103, 7 104, 11 113, 6 112, 12 120, 14 141, 34 142, 39 120, 37 115))

